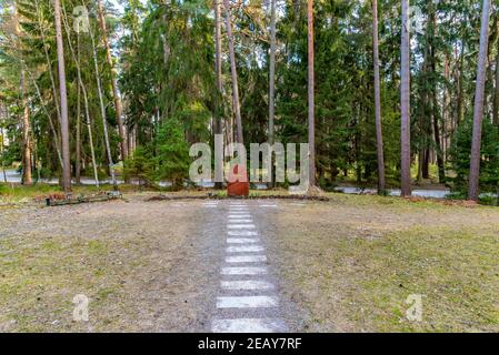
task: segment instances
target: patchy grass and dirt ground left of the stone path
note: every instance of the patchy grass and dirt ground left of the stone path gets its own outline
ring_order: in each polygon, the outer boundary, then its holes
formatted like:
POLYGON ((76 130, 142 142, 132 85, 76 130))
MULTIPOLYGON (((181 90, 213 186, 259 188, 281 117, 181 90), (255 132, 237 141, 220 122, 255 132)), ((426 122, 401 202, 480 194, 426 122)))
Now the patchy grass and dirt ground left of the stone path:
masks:
POLYGON ((0 331, 193 332, 208 326, 217 276, 197 203, 132 196, 0 212, 0 331), (212 267, 206 267, 212 265, 212 267), (214 281, 213 281, 214 282, 214 281), (90 298, 88 323, 72 300, 90 298))

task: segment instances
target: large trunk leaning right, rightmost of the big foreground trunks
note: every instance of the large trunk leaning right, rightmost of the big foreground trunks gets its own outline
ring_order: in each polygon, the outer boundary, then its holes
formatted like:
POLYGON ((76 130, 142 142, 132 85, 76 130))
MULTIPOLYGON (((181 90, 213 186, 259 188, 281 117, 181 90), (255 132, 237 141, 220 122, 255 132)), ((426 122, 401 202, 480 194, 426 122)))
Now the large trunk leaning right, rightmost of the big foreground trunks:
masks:
POLYGON ((489 41, 490 1, 491 0, 483 0, 481 16, 480 53, 478 57, 477 89, 475 93, 473 135, 468 191, 468 199, 470 201, 478 201, 480 190, 481 131, 489 41))

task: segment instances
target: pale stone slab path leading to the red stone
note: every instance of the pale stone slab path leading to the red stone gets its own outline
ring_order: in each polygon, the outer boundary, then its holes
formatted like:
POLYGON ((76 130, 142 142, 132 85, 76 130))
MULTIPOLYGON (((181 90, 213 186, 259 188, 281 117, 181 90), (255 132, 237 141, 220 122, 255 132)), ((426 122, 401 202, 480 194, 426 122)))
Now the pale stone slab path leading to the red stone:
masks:
MULTIPOLYGON (((218 202, 204 204, 218 207, 218 202)), ((257 206, 257 205, 256 205, 257 206)), ((277 209, 260 204, 261 209, 277 209)), ((227 246, 220 270, 220 285, 211 323, 213 333, 282 333, 288 327, 281 317, 280 300, 261 231, 251 216, 249 203, 230 202, 227 219, 227 246)))

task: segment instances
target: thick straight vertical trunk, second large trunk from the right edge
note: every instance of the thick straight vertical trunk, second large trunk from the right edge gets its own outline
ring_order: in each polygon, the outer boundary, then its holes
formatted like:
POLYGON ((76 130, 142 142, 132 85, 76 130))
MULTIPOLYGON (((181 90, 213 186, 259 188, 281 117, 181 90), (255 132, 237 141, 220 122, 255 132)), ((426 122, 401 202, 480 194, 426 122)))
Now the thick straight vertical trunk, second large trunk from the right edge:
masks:
POLYGON ((409 0, 402 0, 401 42, 401 187, 402 197, 411 195, 410 176, 410 33, 409 0))

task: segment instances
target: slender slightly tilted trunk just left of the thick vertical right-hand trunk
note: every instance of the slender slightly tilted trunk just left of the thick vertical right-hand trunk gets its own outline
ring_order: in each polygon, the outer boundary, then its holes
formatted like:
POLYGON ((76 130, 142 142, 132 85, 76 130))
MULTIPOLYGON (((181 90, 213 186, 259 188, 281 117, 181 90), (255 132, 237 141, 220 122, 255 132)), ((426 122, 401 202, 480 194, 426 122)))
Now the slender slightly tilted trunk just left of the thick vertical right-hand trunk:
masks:
POLYGON ((378 0, 372 0, 372 39, 375 62, 376 139, 378 150, 378 193, 386 193, 385 151, 381 121, 381 83, 379 74, 378 0))

